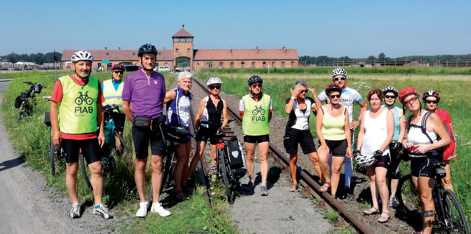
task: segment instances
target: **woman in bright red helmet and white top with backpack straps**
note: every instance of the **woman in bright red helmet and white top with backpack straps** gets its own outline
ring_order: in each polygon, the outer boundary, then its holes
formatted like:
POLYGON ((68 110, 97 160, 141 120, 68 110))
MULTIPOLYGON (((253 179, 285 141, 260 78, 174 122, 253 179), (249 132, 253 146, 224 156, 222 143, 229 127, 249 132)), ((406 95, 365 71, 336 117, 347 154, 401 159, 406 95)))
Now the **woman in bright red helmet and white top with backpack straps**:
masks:
POLYGON ((412 115, 406 121, 402 145, 409 150, 412 181, 417 188, 422 203, 423 226, 421 233, 429 234, 432 232, 432 225, 435 220, 435 204, 432 200, 432 188, 435 179, 431 166, 442 159, 436 149, 448 145, 450 137, 438 114, 433 112, 425 122, 428 136, 422 133, 422 118, 429 111, 422 109, 419 92, 415 88, 407 87, 402 89, 399 92, 399 99, 412 112, 412 115), (437 136, 440 136, 441 139, 438 140, 437 136), (431 140, 429 140, 429 137, 431 140), (430 143, 430 141, 433 143, 430 143))

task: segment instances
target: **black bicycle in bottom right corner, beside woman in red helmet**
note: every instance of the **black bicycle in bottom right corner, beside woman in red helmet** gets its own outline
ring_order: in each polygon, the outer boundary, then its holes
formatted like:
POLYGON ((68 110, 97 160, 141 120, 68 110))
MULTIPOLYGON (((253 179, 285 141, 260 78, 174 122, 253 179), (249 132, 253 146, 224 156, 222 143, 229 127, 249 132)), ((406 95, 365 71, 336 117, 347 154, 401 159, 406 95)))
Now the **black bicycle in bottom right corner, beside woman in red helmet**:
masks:
MULTIPOLYGON (((448 233, 469 234, 466 216, 458 198, 453 191, 444 189, 441 183, 441 178, 446 175, 446 171, 442 167, 444 165, 445 162, 442 161, 432 164, 436 182, 432 191, 435 202, 435 222, 433 223, 432 232, 444 232, 446 230, 448 233)), ((417 218, 422 216, 422 204, 411 174, 407 174, 399 180, 397 198, 399 201, 398 206, 406 215, 417 218)))

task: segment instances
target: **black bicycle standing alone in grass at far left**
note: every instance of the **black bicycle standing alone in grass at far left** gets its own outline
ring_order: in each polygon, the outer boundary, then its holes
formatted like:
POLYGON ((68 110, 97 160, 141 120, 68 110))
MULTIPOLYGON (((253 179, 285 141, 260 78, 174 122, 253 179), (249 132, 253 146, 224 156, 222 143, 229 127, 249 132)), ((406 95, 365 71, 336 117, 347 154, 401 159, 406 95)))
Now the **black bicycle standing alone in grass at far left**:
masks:
POLYGON ((33 108, 36 106, 36 100, 34 99, 35 94, 41 93, 43 88, 46 86, 41 85, 40 83, 33 82, 23 82, 31 85, 30 89, 27 89, 26 92, 20 93, 15 100, 15 107, 20 108, 18 110, 18 122, 22 119, 23 116, 29 116, 33 112, 33 108))

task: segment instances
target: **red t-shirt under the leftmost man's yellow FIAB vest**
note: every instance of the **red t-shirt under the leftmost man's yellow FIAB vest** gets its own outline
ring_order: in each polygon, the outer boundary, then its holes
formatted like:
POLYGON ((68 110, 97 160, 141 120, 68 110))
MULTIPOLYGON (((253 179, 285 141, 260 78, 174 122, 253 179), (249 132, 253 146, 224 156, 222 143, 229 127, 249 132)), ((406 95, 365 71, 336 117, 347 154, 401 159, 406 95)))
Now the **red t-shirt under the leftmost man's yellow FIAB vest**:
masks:
MULTIPOLYGON (((78 85, 83 86, 88 83, 88 79, 85 81, 78 80, 74 77, 73 74, 69 75, 69 77, 78 85)), ((52 92, 51 95, 51 100, 56 101, 56 102, 61 102, 62 97, 64 96, 63 90, 62 90, 62 83, 60 80, 56 81, 56 84, 54 86, 54 91, 52 92)), ((101 84, 100 81, 98 81, 98 101, 102 103, 104 101, 104 96, 103 93, 101 92, 101 84)), ((67 134, 64 132, 61 132, 62 138, 64 139, 74 139, 74 140, 84 140, 84 139, 94 139, 96 138, 96 132, 91 132, 91 133, 83 133, 83 134, 67 134)))

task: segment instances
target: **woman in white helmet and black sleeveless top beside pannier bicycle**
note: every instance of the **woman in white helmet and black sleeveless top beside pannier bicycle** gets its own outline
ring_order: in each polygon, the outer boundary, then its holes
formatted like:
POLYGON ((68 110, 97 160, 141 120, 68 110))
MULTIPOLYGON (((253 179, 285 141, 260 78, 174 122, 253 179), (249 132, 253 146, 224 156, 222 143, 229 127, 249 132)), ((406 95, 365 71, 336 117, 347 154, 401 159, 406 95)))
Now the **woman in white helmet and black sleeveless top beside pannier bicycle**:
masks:
POLYGON ((196 133, 196 153, 191 160, 188 177, 191 177, 193 171, 195 171, 198 161, 201 160, 201 155, 204 152, 206 143, 209 139, 211 147, 211 169, 213 174, 216 171, 216 144, 217 137, 214 134, 220 128, 224 128, 227 124, 227 104, 226 101, 219 97, 221 91, 222 80, 213 75, 208 79, 206 85, 210 94, 201 99, 199 104, 198 113, 195 118, 195 129, 198 129, 196 133), (221 123, 221 115, 223 117, 221 123), (200 121, 206 121, 208 123, 200 123, 200 121))

